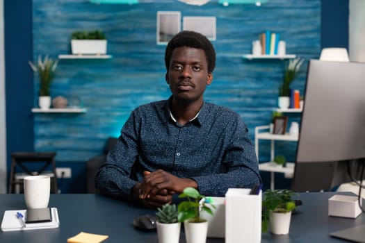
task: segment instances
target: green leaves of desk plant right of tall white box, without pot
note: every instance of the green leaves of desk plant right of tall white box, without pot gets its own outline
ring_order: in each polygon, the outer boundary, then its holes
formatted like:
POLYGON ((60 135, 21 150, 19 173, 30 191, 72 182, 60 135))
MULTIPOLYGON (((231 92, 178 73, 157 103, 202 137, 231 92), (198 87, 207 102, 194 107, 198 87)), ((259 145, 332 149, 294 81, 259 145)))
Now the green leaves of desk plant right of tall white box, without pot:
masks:
POLYGON ((270 211, 291 212, 295 206, 294 196, 298 196, 292 190, 266 190, 262 201, 262 232, 268 232, 270 211))

